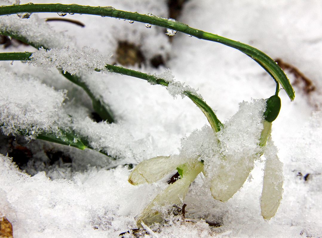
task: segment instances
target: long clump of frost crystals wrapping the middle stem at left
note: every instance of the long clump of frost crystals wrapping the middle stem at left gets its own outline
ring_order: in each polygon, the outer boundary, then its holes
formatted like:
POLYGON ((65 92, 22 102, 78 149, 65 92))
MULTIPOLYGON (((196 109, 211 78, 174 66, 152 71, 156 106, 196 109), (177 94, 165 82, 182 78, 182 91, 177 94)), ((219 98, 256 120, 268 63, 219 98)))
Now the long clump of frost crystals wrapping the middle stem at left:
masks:
POLYGON ((81 50, 70 47, 51 50, 40 48, 30 59, 33 65, 43 67, 45 72, 50 68, 59 68, 64 73, 86 75, 98 69, 108 72, 105 65, 111 56, 110 54, 105 57, 100 55, 98 50, 85 46, 81 50))

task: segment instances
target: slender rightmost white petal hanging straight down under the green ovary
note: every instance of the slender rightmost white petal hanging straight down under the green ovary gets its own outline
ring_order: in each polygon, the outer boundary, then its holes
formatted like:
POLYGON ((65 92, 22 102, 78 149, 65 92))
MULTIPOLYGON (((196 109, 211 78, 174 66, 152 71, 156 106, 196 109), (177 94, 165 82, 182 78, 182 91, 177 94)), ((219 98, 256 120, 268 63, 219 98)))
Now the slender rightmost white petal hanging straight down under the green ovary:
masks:
POLYGON ((265 220, 275 216, 283 194, 283 164, 277 157, 277 148, 269 139, 264 152, 266 157, 263 191, 260 208, 265 220))

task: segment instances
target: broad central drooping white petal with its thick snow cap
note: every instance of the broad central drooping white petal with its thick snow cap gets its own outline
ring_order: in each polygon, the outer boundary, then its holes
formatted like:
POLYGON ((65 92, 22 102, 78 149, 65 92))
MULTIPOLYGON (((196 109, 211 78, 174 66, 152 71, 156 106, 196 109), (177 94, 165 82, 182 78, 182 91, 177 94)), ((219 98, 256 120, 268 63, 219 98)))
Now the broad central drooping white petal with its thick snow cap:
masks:
POLYGON ((245 183, 270 134, 263 120, 264 100, 243 102, 238 112, 217 132, 213 157, 205 159, 206 176, 214 199, 227 201, 245 183))

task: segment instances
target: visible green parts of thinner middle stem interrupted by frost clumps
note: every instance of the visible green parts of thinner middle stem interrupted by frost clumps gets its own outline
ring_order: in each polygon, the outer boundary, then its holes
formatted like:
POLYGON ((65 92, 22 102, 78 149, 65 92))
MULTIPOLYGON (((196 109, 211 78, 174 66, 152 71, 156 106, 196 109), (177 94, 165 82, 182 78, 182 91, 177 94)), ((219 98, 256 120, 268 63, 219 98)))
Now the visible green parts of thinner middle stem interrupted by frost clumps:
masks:
MULTIPOLYGON (((32 55, 31 52, 15 52, 15 53, 0 53, 0 60, 22 60, 22 61, 28 61, 30 60, 30 56, 32 55)), ((160 84, 163 86, 168 86, 169 81, 166 81, 164 79, 158 78, 157 76, 138 72, 135 70, 123 68, 120 66, 115 66, 115 65, 110 65, 107 64, 105 66, 110 72, 114 73, 120 73, 132 77, 136 77, 139 79, 144 79, 150 82, 151 84, 160 84)), ((96 71, 100 71, 100 69, 96 69, 96 71)), ((78 84, 79 82, 75 82, 78 84)), ((78 84, 79 85, 79 84, 78 84)), ((81 86, 81 85, 80 85, 81 86)), ((210 106, 206 104, 206 102, 202 99, 199 98, 197 95, 192 94, 189 91, 184 91, 183 92, 188 98, 190 98, 194 104, 196 104, 201 111, 204 113, 204 115, 207 117, 208 122, 210 123, 211 127, 215 132, 220 131, 222 123, 218 120, 217 116, 214 114, 213 110, 211 109, 210 106)))

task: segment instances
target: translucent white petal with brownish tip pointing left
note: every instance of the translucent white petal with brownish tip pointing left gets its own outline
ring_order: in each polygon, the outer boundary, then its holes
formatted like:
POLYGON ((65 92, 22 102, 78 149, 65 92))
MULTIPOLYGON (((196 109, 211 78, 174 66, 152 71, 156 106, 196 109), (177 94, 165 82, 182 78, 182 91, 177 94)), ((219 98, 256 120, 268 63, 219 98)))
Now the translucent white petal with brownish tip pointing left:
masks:
POLYGON ((144 160, 135 166, 128 182, 133 185, 154 183, 186 162, 187 160, 178 156, 158 156, 144 160))

